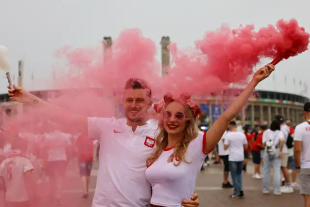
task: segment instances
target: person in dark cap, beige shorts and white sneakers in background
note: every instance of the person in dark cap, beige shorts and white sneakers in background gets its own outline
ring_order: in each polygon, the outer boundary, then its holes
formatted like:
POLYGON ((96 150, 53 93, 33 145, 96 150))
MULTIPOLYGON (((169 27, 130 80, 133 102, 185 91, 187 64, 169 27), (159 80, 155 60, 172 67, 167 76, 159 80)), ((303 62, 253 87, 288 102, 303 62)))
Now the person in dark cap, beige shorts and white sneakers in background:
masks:
POLYGON ((285 185, 281 187, 281 192, 292 193, 294 192, 294 189, 291 186, 290 174, 287 169, 287 163, 289 160, 289 149, 286 145, 286 141, 290 133, 290 127, 284 123, 284 118, 281 115, 277 115, 276 120, 278 120, 281 124, 281 131, 283 133, 283 142, 284 142, 281 158, 281 171, 285 180, 285 185))

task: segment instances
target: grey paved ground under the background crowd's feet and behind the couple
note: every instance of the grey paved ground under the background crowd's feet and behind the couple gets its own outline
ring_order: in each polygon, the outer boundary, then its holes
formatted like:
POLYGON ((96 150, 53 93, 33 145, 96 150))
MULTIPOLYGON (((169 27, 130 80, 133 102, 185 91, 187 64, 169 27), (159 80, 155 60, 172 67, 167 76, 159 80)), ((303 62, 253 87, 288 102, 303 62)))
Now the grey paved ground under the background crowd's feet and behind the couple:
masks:
MULTIPOLYGON (((94 164, 91 193, 88 199, 81 198, 81 188, 76 169, 72 167, 67 173, 67 180, 63 190, 63 207, 91 207, 95 180, 97 174, 97 163, 94 164)), ((263 195, 262 181, 252 179, 253 166, 248 166, 248 173, 244 175, 244 199, 230 199, 231 189, 222 189, 222 166, 211 165, 201 172, 197 180, 196 192, 199 194, 201 207, 301 207, 303 199, 299 191, 280 196, 263 195)), ((39 207, 53 207, 53 203, 47 198, 47 192, 40 192, 41 204, 39 207)), ((112 195, 111 195, 112 196, 112 195)), ((3 204, 0 201, 0 207, 3 204)))

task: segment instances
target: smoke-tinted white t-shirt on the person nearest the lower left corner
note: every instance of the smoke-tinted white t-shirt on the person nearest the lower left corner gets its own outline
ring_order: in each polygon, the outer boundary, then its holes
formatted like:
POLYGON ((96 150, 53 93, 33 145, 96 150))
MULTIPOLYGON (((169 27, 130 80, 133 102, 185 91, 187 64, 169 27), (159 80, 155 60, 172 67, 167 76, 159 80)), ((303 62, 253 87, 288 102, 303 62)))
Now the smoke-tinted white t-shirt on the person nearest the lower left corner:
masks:
POLYGON ((0 176, 4 178, 6 201, 29 201, 25 186, 25 173, 29 170, 33 170, 30 160, 19 153, 15 154, 15 151, 1 163, 0 176))

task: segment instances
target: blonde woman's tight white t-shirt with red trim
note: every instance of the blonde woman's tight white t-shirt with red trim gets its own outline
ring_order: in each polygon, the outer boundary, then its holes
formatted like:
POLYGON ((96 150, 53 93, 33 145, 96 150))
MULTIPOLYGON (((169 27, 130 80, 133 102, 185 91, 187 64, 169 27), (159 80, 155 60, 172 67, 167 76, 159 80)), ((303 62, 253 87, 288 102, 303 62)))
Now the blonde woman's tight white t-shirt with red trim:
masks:
POLYGON ((166 148, 159 158, 145 171, 147 180, 152 185, 151 204, 165 207, 181 207, 182 200, 190 200, 194 193, 197 176, 207 155, 203 152, 205 136, 199 134, 186 150, 186 161, 179 166, 173 163, 178 158, 171 158, 173 148, 166 148))

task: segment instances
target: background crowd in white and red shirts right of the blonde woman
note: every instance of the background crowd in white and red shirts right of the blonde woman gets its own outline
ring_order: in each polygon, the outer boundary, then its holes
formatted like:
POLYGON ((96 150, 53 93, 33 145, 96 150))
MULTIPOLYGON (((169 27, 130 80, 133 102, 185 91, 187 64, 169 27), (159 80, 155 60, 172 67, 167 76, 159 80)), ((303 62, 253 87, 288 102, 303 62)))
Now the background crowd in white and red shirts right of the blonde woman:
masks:
MULTIPOLYGON (((293 193, 294 189, 300 190, 302 194, 309 193, 310 175, 307 173, 310 163, 310 149, 308 149, 310 147, 310 102, 304 105, 304 116, 306 121, 297 126, 293 126, 291 120, 285 120, 283 116, 277 115, 270 126, 257 125, 254 129, 246 126, 243 130, 238 130, 236 121, 231 121, 227 131, 218 142, 217 148, 213 151, 214 164, 223 165, 224 169, 222 188, 234 188, 235 192, 241 191, 242 197, 244 196, 242 172, 247 173, 247 163, 250 159, 254 164, 252 177, 263 180, 264 194, 269 194, 272 168, 274 195, 293 193), (294 141, 299 144, 295 150, 294 141), (298 143, 300 141, 303 141, 303 146, 298 143), (301 149, 304 150, 301 158, 304 167, 300 166, 301 149), (306 168, 304 172, 308 175, 304 176, 307 178, 302 178, 307 181, 303 182, 302 186, 296 182, 300 168, 306 168), (229 181, 229 173, 233 185, 229 181)), ((209 162, 209 158, 206 159, 201 170, 209 166, 209 162)), ((235 193, 231 195, 231 197, 234 196, 235 193)))

